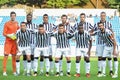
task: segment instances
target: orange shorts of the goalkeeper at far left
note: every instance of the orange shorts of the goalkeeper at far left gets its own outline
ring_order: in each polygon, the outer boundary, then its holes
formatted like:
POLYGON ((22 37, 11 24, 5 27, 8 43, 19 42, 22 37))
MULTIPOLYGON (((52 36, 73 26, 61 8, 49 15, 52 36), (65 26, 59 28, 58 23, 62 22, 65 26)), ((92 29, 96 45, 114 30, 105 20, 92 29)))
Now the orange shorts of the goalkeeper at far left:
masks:
POLYGON ((4 54, 16 54, 17 53, 17 45, 16 41, 6 41, 4 44, 4 54))

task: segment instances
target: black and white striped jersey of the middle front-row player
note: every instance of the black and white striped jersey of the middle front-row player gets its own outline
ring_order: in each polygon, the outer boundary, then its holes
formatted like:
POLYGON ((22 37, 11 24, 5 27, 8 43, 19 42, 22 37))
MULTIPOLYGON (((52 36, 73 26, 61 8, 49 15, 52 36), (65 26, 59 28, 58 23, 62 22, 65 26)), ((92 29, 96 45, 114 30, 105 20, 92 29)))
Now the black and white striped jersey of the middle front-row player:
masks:
POLYGON ((58 31, 54 33, 54 37, 57 40, 57 48, 68 48, 70 47, 69 39, 73 37, 73 34, 69 32, 59 33, 58 31))

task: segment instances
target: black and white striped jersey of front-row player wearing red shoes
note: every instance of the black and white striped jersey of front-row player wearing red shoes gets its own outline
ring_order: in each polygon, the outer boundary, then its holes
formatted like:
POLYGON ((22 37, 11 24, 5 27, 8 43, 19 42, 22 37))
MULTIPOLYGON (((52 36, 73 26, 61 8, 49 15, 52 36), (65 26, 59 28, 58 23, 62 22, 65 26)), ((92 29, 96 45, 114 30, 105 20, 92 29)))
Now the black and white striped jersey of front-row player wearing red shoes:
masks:
POLYGON ((92 40, 88 31, 84 31, 82 34, 77 31, 75 32, 74 37, 76 40, 76 48, 88 48, 89 41, 92 40))

